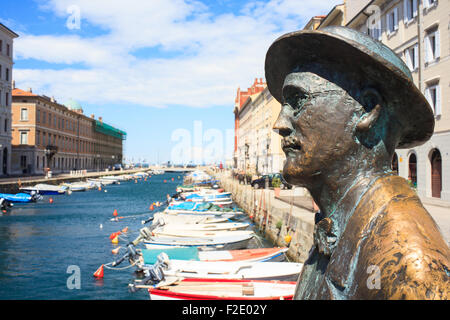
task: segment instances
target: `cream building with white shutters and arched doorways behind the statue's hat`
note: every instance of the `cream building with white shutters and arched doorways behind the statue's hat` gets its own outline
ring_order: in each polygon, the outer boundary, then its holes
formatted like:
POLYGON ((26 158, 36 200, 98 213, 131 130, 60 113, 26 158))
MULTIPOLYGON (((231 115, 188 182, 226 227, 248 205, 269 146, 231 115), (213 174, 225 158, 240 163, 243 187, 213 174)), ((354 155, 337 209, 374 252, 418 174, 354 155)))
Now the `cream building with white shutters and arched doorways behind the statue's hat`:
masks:
POLYGON ((346 6, 352 13, 346 26, 380 40, 401 57, 434 111, 431 139, 396 150, 394 169, 421 197, 450 201, 450 1, 348 0, 346 6))

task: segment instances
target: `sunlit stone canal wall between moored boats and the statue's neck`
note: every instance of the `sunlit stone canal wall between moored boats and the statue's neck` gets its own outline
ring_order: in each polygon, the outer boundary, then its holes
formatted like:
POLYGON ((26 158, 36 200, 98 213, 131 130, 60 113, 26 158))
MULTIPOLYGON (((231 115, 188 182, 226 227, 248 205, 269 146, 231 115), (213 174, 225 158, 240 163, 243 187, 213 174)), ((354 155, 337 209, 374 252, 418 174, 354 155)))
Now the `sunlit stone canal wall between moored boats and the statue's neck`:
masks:
MULTIPOLYGON (((289 246, 290 260, 304 262, 313 244, 314 214, 274 196, 269 189, 255 190, 239 184, 229 173, 215 173, 221 186, 232 193, 233 200, 245 210, 257 228, 277 246, 289 246), (289 237, 291 237, 289 242, 289 237)), ((282 191, 294 194, 295 190, 282 191)))

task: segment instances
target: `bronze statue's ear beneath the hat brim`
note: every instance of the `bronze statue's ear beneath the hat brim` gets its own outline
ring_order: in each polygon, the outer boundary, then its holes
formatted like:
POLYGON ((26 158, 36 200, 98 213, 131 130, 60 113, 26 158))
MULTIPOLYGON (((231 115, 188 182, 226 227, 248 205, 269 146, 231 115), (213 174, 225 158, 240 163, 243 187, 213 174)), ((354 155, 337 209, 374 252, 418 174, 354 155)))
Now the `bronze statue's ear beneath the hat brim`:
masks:
POLYGON ((361 105, 366 111, 356 125, 357 133, 365 133, 372 128, 380 117, 383 99, 377 90, 364 89, 361 94, 361 105))

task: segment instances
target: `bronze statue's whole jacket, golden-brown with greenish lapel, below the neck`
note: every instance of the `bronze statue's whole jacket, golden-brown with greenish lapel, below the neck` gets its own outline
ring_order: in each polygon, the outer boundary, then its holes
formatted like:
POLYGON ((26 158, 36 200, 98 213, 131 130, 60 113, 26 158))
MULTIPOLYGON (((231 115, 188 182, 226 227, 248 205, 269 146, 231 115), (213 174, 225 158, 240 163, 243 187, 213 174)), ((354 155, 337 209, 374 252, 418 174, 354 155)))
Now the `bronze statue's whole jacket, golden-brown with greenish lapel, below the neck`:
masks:
POLYGON ((296 299, 449 298, 450 250, 405 179, 378 179, 330 256, 313 247, 296 299))

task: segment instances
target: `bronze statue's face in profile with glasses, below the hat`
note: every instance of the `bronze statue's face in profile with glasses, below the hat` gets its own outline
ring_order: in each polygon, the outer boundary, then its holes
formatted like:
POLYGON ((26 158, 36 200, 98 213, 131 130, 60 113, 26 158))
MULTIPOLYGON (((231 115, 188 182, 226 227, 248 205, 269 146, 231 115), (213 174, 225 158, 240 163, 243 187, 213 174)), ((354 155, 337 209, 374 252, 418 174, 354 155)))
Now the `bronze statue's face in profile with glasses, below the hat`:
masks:
POLYGON ((355 105, 358 102, 341 87, 317 74, 286 76, 274 129, 283 136, 283 176, 289 183, 307 187, 317 177, 342 168, 336 168, 336 162, 357 147, 355 105))

